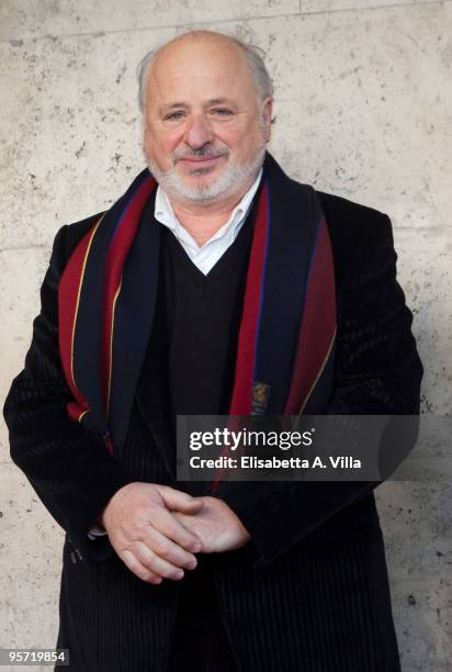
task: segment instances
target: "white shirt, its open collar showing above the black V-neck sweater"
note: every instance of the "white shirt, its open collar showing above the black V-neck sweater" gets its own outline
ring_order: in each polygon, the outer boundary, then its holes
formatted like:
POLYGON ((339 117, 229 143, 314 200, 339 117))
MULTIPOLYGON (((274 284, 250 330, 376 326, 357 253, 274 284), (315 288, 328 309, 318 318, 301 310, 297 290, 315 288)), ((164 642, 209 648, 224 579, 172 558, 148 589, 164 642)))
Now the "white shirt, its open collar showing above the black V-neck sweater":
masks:
MULTIPOLYGON (((168 226, 170 231, 178 238, 183 249, 189 255, 190 259, 195 266, 206 276, 211 268, 215 266, 218 259, 225 254, 229 245, 234 243, 237 237, 241 225, 248 214, 251 206, 251 201, 255 193, 258 190, 260 178, 262 176, 262 168, 247 193, 241 199, 240 203, 235 206, 230 217, 218 231, 211 237, 202 247, 200 247, 196 240, 189 234, 189 232, 181 225, 174 211, 171 208, 171 203, 161 187, 157 187, 156 192, 156 206, 154 210, 154 216, 160 224, 168 226)), ((89 539, 95 539, 95 537, 102 537, 106 535, 106 531, 100 525, 93 525, 89 533, 89 539)))

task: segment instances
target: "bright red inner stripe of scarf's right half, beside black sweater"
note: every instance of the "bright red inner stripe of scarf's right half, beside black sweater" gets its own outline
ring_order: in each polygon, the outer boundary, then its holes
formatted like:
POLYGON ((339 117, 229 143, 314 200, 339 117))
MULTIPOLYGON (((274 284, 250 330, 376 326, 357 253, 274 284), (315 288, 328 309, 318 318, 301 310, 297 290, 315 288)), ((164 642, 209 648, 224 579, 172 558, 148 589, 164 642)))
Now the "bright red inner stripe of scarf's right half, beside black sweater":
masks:
POLYGON ((235 383, 229 406, 229 415, 251 413, 252 385, 256 366, 256 339, 262 303, 262 287, 265 266, 267 240, 269 233, 268 212, 269 190, 262 187, 257 212, 249 271, 247 276, 244 314, 238 337, 235 383))

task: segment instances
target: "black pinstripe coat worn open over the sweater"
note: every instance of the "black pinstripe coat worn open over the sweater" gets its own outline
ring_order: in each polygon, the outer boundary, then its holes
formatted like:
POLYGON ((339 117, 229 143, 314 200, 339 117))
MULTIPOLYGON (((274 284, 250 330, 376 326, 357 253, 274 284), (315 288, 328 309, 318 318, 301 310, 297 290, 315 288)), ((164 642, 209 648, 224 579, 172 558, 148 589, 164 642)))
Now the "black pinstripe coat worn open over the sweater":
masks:
MULTIPOLYGON (((290 180, 275 165, 278 197, 290 180)), ((287 195, 289 194, 289 195, 287 195)), ((319 192, 335 258, 338 338, 329 413, 418 412, 422 367, 411 314, 396 282, 386 215, 319 192)), ((112 494, 132 481, 174 485, 159 437, 158 394, 145 362, 126 447, 67 418, 70 392, 58 355, 57 289, 65 264, 94 217, 56 236, 42 310, 24 370, 4 416, 11 456, 66 530, 60 631, 70 669, 160 672, 166 668, 179 585, 146 584, 106 538, 87 530, 112 494)), ((320 309, 319 309, 320 310, 320 309)), ((158 391, 157 391, 158 392, 158 391)), ((231 642, 246 672, 397 672, 375 483, 224 483, 216 496, 251 535, 241 549, 204 559, 231 642)))

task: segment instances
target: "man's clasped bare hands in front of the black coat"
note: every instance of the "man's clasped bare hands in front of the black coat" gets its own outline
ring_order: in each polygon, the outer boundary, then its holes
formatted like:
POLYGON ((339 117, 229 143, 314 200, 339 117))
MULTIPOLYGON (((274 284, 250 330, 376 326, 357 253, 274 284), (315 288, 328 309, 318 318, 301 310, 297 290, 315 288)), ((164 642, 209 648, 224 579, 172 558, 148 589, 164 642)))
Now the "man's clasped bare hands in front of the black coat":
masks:
POLYGON ((156 483, 129 483, 110 500, 102 524, 117 556, 139 579, 179 580, 196 567, 194 553, 233 550, 249 540, 236 514, 216 497, 156 483))

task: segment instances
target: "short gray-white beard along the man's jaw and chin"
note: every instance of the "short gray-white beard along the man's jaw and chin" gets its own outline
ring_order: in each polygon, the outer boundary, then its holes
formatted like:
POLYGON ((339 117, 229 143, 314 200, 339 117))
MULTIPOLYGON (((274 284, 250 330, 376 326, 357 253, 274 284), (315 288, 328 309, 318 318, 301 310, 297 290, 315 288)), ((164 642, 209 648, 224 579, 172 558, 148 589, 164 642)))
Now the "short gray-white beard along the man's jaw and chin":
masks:
MULTIPOLYGON (((247 183, 250 177, 258 173, 258 170, 262 167, 264 157, 265 145, 259 147, 249 164, 245 166, 230 166, 228 164, 222 175, 212 184, 200 184, 199 187, 188 187, 173 170, 159 170, 150 158, 147 159, 147 164, 149 171, 168 197, 179 197, 199 203, 202 201, 214 201, 218 197, 224 195, 233 187, 237 188, 241 183, 247 183)), ((202 172, 208 173, 208 171, 203 168, 197 169, 197 175, 202 175, 202 172)))

